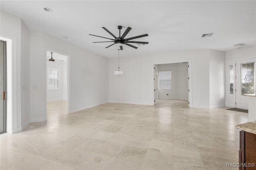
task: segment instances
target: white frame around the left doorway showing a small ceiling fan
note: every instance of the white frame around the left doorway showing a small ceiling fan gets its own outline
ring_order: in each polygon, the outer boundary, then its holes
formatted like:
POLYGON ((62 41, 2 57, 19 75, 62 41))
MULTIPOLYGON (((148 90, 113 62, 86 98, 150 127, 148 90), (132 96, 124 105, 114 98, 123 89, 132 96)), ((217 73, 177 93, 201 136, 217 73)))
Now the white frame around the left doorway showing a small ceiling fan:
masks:
MULTIPOLYGON (((52 48, 49 48, 49 47, 46 47, 45 48, 45 57, 47 56, 47 51, 52 51, 52 52, 54 52, 54 53, 58 53, 58 54, 60 54, 60 55, 65 55, 65 56, 67 56, 67 90, 68 90, 68 92, 67 92, 67 114, 70 114, 71 113, 71 95, 70 95, 70 91, 71 91, 71 82, 70 82, 70 75, 71 75, 71 72, 70 72, 70 70, 71 70, 71 68, 70 68, 70 66, 71 66, 71 64, 70 64, 70 54, 69 53, 65 53, 65 52, 63 52, 63 51, 59 51, 59 50, 57 50, 57 49, 52 49, 52 48)), ((45 110, 44 110, 44 119, 45 120, 47 120, 47 87, 48 87, 48 80, 47 80, 47 60, 45 59, 45 62, 44 62, 44 65, 45 65, 45 67, 44 67, 44 73, 45 73, 45 86, 44 86, 44 92, 45 92, 45 103, 44 103, 44 105, 45 105, 45 110)))

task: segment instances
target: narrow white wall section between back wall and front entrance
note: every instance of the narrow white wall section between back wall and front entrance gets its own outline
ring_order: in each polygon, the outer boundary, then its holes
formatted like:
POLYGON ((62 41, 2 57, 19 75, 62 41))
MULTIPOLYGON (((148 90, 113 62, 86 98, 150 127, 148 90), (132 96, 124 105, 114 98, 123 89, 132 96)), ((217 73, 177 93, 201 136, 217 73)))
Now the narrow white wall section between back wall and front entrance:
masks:
POLYGON ((225 52, 210 49, 210 108, 224 107, 225 52))

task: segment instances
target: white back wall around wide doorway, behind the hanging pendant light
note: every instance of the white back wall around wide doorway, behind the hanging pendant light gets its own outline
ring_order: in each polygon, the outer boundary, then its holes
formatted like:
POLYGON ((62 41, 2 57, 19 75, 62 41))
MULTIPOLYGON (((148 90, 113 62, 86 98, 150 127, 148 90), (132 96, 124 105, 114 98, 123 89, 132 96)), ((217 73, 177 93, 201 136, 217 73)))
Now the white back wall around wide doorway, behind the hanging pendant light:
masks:
POLYGON ((109 59, 109 102, 153 105, 154 64, 192 61, 192 107, 209 108, 209 49, 121 57, 124 75, 114 75, 118 58, 109 59))

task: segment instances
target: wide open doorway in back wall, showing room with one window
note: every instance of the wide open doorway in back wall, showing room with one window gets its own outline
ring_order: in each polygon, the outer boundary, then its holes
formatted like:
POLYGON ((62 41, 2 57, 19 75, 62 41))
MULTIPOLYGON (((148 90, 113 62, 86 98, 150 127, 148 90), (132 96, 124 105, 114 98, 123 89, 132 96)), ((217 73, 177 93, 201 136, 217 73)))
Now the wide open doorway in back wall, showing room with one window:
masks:
POLYGON ((189 62, 154 65, 154 105, 157 99, 186 100, 192 107, 189 62))

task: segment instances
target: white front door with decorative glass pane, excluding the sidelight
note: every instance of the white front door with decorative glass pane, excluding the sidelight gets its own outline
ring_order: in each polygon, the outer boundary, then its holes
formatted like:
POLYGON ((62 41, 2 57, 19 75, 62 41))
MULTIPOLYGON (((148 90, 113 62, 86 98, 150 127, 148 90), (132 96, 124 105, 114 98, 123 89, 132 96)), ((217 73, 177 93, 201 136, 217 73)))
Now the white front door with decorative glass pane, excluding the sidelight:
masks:
POLYGON ((256 58, 236 61, 236 108, 248 109, 244 95, 255 93, 255 63, 256 58))

